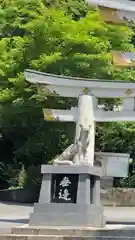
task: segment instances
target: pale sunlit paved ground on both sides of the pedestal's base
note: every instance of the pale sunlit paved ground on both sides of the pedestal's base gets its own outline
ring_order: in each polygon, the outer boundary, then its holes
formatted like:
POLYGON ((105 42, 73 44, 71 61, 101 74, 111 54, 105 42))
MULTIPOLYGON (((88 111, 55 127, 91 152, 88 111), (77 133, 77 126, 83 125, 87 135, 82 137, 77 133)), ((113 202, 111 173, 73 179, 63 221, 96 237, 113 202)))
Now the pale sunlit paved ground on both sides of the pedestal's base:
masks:
MULTIPOLYGON (((0 232, 7 233, 13 226, 28 223, 32 211, 32 205, 0 203, 0 232)), ((135 227, 135 207, 105 207, 104 214, 108 224, 135 227)))

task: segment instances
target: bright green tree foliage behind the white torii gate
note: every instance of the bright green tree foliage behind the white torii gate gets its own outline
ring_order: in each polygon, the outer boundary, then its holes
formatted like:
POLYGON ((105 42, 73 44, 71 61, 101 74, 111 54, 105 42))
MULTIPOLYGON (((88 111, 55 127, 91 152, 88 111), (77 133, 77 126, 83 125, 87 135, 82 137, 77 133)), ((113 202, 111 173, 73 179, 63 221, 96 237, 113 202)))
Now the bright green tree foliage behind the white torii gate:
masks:
MULTIPOLYGON (((76 101, 39 97, 24 69, 134 80, 134 69, 115 68, 110 54, 134 50, 132 37, 132 29, 104 23, 83 0, 0 0, 2 162, 47 163, 73 140, 74 124, 45 122, 42 107, 65 109, 76 101)), ((134 124, 98 125, 96 148, 134 155, 133 136, 134 124)))

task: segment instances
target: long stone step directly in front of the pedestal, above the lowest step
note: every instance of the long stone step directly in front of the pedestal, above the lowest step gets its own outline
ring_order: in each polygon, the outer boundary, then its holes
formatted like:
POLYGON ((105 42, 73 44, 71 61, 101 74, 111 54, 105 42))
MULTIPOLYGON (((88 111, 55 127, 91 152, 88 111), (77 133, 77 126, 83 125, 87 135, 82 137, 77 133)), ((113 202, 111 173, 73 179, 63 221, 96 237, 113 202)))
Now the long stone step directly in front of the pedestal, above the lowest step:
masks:
POLYGON ((13 235, 18 236, 56 236, 63 238, 66 236, 66 239, 70 239, 71 237, 79 237, 80 238, 91 238, 91 237, 134 237, 135 238, 135 226, 130 227, 122 227, 122 226, 107 226, 104 229, 96 229, 90 227, 31 227, 29 225, 24 225, 23 227, 15 227, 12 228, 11 233, 13 235))

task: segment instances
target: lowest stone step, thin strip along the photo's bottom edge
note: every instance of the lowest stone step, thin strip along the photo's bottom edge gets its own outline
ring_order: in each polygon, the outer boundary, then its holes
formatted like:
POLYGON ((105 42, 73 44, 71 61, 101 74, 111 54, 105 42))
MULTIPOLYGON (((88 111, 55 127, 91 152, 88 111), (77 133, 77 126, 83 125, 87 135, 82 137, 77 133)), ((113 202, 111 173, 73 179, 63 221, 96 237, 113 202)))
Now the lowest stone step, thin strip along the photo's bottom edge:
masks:
POLYGON ((89 237, 77 237, 77 236, 55 236, 55 235, 0 235, 0 240, 128 240, 135 237, 127 236, 89 236, 89 237))

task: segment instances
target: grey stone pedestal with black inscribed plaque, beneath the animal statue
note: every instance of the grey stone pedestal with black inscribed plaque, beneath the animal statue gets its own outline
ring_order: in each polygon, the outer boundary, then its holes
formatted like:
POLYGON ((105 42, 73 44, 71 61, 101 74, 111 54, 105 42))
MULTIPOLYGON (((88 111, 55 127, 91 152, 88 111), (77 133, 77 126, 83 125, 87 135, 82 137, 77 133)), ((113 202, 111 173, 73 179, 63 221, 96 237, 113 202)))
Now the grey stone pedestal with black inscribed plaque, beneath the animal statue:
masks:
POLYGON ((31 226, 104 227, 100 169, 90 165, 42 165, 39 202, 31 226))

